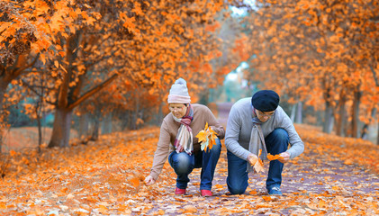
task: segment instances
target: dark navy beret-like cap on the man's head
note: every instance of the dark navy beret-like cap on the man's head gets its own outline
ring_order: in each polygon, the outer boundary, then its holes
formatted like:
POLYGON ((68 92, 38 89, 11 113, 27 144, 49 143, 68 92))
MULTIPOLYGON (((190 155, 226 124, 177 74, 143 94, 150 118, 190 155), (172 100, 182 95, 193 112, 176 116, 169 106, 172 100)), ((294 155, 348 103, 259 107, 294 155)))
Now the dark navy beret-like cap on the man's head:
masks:
POLYGON ((270 112, 275 111, 276 107, 279 105, 279 95, 272 90, 261 90, 258 91, 251 97, 251 104, 258 111, 270 112))

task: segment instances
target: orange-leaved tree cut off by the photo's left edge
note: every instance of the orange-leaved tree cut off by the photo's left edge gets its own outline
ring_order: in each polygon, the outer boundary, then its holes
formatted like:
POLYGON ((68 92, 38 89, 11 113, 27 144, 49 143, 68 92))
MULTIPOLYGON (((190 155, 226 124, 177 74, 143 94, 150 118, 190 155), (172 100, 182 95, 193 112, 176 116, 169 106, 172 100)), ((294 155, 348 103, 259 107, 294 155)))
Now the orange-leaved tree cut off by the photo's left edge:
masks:
POLYGON ((70 24, 68 1, 5 0, 0 3, 0 108, 6 119, 7 87, 23 75, 31 73, 46 52, 58 53, 52 38, 70 24))

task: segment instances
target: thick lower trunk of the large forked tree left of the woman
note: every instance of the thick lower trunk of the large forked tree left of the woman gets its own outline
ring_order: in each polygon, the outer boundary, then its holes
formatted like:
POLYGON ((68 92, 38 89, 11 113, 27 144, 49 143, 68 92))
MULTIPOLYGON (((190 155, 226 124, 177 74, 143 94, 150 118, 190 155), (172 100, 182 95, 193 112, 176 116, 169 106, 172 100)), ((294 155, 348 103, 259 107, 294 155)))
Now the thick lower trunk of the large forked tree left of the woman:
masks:
POLYGON ((56 109, 49 148, 68 147, 71 118, 72 110, 56 109))

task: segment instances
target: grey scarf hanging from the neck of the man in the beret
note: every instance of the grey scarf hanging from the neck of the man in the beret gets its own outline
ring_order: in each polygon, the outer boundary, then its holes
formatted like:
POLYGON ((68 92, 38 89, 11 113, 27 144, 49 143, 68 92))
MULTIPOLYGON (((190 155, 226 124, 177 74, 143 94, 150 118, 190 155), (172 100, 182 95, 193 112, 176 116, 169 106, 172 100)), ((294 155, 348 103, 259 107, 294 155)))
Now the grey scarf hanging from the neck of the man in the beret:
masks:
MULTIPOLYGON (((253 121, 253 129, 251 130, 250 142, 248 143, 248 151, 258 156, 259 149, 262 149, 262 154, 260 155, 260 158, 261 160, 266 160, 267 158, 266 142, 265 142, 265 137, 263 136, 262 128, 260 127, 260 125, 262 124, 262 121, 259 121, 259 119, 257 118, 257 114, 254 108, 252 112, 252 121, 253 121)), ((253 170, 254 170, 253 166, 250 166, 250 164, 248 164, 246 172, 249 173, 253 170)))

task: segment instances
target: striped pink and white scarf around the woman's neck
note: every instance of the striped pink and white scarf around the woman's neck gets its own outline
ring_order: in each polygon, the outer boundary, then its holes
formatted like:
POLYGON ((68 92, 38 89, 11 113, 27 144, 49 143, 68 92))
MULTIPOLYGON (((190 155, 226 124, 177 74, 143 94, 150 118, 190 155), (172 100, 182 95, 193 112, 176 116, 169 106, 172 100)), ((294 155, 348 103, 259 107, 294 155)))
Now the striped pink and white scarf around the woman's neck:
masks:
POLYGON ((194 152, 193 134, 190 128, 191 121, 194 119, 194 109, 192 109, 191 104, 188 104, 187 112, 185 116, 181 119, 176 118, 174 115, 174 120, 180 123, 180 127, 177 130, 176 139, 174 146, 176 152, 180 153, 185 151, 188 155, 192 155, 194 152))

